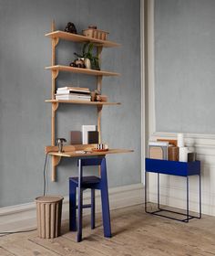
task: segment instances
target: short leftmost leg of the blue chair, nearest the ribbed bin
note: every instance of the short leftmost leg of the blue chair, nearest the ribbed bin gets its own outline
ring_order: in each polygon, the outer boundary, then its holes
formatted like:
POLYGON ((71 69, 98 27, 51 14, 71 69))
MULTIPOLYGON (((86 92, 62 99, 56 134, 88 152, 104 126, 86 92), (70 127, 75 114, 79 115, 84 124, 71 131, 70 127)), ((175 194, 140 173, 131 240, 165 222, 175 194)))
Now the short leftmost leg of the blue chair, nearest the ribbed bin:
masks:
POLYGON ((69 230, 77 231, 77 188, 69 182, 69 230))

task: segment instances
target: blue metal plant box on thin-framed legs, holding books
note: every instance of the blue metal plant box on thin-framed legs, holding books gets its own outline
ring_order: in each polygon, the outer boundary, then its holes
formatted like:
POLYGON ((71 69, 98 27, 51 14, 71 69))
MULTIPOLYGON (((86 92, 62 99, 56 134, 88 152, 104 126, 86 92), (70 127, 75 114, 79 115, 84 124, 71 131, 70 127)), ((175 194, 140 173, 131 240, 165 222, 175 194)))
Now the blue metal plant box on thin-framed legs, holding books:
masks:
POLYGON ((175 219, 183 222, 189 222, 189 219, 200 219, 201 218, 201 187, 200 187, 200 212, 199 216, 189 215, 189 176, 199 176, 200 181, 200 161, 195 162, 176 162, 168 160, 159 159, 149 159, 146 158, 146 171, 145 171, 145 211, 150 214, 158 215, 160 217, 165 217, 169 219, 175 219), (148 193, 148 173, 158 174, 158 209, 152 212, 148 211, 147 193, 148 193), (183 176, 187 179, 187 208, 186 213, 180 213, 177 211, 172 211, 164 208, 160 208, 159 204, 159 174, 170 175, 170 176, 183 176), (162 215, 162 212, 176 213, 185 216, 185 219, 176 219, 173 217, 162 215))

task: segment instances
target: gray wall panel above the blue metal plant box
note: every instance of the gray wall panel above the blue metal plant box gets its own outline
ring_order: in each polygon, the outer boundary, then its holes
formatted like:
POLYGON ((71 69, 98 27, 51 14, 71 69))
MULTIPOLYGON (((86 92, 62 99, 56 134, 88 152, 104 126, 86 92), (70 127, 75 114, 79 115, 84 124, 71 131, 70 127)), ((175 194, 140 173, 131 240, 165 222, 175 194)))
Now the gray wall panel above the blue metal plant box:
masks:
POLYGON ((214 0, 155 0, 158 132, 215 131, 214 14, 214 0))

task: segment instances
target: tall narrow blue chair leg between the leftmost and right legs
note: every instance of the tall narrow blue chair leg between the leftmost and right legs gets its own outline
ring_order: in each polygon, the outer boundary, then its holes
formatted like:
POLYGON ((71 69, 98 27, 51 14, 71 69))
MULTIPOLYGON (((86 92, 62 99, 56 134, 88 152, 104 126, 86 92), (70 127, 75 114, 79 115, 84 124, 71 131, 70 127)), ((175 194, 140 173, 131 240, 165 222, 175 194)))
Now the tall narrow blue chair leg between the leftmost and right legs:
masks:
POLYGON ((81 159, 78 160, 78 203, 77 203, 77 241, 82 240, 82 212, 83 212, 83 189, 82 185, 82 165, 81 159))

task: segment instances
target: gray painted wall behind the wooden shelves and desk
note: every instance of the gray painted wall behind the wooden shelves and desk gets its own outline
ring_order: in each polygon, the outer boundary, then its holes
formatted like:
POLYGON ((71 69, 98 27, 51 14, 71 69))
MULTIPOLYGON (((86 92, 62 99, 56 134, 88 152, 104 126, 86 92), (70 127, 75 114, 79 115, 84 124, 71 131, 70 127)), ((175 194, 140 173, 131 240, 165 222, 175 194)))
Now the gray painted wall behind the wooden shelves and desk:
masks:
MULTIPOLYGON (((56 29, 68 21, 79 33, 89 24, 110 32, 122 44, 102 53, 102 68, 120 72, 104 78, 103 92, 109 101, 122 105, 103 110, 103 141, 111 147, 133 148, 135 153, 107 156, 110 187, 140 182, 140 42, 139 1, 133 0, 0 0, 0 207, 32 201, 43 191, 44 146, 51 141, 51 42, 44 37, 51 20, 56 29)), ((56 61, 69 64, 80 45, 60 41, 56 61)), ((57 86, 67 84, 95 88, 96 79, 60 73, 57 86)), ((69 131, 94 124, 94 107, 62 105, 57 111, 57 135, 69 140, 69 131)), ((88 173, 88 171, 87 171, 88 173)), ((77 174, 77 161, 63 159, 58 182, 48 193, 67 195, 67 177, 77 174)))

